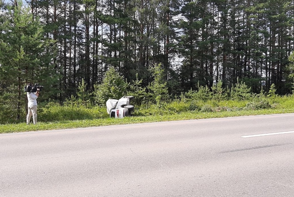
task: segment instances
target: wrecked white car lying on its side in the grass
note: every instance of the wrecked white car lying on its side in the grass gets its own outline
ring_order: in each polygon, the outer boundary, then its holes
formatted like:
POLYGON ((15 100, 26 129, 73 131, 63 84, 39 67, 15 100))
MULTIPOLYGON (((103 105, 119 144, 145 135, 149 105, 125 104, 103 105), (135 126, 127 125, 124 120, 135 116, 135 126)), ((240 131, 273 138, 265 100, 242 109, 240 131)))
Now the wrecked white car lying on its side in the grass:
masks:
POLYGON ((131 112, 134 110, 134 106, 131 105, 130 102, 133 98, 133 96, 123 96, 119 100, 108 99, 106 101, 106 109, 110 118, 130 116, 131 112))

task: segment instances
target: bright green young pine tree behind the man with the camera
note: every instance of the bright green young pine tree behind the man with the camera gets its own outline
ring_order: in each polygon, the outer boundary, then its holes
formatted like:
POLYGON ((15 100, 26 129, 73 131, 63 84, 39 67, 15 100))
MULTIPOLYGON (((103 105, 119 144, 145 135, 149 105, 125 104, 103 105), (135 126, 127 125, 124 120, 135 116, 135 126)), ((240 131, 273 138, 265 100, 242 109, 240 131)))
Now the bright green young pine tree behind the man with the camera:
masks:
POLYGON ((10 94, 9 107, 15 112, 9 116, 19 120, 24 116, 21 108, 26 103, 26 83, 40 83, 45 87, 39 101, 52 95, 54 89, 49 87, 56 81, 52 64, 56 48, 51 39, 44 37, 38 18, 34 19, 21 1, 9 7, 7 17, 8 20, 0 24, 0 81, 10 94))

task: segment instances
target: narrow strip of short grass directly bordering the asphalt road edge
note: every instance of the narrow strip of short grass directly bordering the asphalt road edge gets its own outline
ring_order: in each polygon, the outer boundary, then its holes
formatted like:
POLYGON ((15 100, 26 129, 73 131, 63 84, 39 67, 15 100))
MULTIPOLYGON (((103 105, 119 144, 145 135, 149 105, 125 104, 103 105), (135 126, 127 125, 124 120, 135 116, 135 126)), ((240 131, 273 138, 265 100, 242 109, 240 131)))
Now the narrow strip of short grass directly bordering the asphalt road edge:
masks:
POLYGON ((279 105, 276 108, 261 109, 261 110, 246 110, 246 111, 221 111, 221 112, 199 112, 187 111, 172 115, 151 115, 151 116, 131 116, 123 119, 114 118, 100 118, 100 119, 87 119, 87 120, 66 120, 58 122, 39 122, 37 125, 26 125, 25 123, 19 124, 5 124, 0 125, 0 133, 13 133, 37 130, 55 130, 66 128, 83 128, 95 127, 106 125, 120 125, 120 124, 134 124, 134 123, 148 123, 148 122, 161 122, 173 120, 191 120, 191 119, 204 119, 204 118, 224 118, 234 116, 251 116, 251 115, 264 115, 264 114, 277 114, 277 113, 294 113, 294 107, 279 105))

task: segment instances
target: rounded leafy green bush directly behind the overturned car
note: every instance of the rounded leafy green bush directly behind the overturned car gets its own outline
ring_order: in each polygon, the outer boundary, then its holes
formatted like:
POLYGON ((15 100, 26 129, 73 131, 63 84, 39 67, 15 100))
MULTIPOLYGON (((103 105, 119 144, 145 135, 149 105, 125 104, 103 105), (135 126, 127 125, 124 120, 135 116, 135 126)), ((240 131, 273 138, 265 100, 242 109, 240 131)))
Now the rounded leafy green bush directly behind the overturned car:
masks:
POLYGON ((119 99, 124 96, 126 92, 126 82, 123 77, 114 69, 110 67, 105 72, 103 81, 97 86, 94 92, 95 103, 99 106, 106 106, 108 99, 119 99))

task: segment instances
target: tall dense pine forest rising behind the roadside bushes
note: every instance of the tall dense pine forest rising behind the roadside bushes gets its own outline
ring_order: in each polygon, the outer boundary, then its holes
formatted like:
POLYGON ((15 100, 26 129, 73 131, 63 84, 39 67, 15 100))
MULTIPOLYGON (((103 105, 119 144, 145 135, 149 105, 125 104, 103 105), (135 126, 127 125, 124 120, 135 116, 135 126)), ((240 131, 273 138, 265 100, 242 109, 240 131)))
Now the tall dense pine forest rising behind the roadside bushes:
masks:
POLYGON ((241 81, 287 95, 293 47, 294 0, 0 0, 0 98, 20 112, 33 82, 62 103, 111 68, 144 89, 158 65, 171 97, 241 81))

